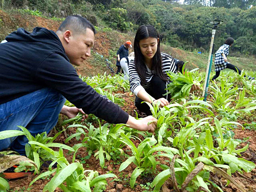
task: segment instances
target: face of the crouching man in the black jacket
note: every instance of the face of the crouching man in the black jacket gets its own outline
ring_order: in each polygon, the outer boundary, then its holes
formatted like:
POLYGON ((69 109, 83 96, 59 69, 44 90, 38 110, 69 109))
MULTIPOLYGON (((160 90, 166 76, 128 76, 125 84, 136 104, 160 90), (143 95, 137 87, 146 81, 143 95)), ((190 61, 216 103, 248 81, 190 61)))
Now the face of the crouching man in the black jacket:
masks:
POLYGON ((65 52, 73 65, 80 66, 82 61, 91 55, 91 48, 94 46, 95 39, 94 33, 89 28, 86 29, 86 33, 70 33, 70 36, 65 37, 68 42, 65 46, 65 52))

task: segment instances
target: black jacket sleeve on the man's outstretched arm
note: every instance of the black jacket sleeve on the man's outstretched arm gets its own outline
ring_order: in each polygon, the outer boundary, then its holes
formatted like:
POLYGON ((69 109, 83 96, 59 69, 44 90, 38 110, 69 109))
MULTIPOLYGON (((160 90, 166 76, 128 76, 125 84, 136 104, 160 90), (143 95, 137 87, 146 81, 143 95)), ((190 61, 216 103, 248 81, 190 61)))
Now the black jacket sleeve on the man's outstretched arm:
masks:
POLYGON ((129 115, 105 96, 83 82, 74 67, 58 54, 51 54, 37 68, 35 80, 59 91, 66 99, 87 114, 94 114, 110 123, 126 123, 129 115))

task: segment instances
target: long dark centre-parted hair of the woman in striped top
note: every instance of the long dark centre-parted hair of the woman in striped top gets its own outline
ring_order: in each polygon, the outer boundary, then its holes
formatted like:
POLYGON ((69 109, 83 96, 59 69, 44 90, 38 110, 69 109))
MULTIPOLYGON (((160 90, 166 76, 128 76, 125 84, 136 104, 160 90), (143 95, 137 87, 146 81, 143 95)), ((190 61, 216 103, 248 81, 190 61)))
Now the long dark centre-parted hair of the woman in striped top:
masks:
MULTIPOLYGON (((134 54, 135 54, 134 64, 135 64, 135 69, 138 72, 138 75, 140 77, 141 85, 145 84, 146 82, 146 63, 145 63, 144 55, 140 51, 139 41, 148 37, 159 38, 159 34, 152 25, 140 26, 139 29, 137 30, 137 33, 134 39, 134 54)), ((161 79, 163 79, 164 81, 168 80, 162 70, 160 40, 158 41, 158 44, 157 44, 157 52, 152 58, 151 70, 154 70, 156 75, 161 79)))

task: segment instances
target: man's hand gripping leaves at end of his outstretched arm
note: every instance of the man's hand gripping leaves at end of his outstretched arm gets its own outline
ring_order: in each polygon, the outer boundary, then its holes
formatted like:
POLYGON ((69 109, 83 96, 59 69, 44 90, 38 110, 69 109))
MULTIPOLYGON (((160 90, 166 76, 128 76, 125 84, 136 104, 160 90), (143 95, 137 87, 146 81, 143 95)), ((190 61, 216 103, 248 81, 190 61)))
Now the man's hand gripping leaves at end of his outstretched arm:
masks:
POLYGON ((126 124, 129 124, 130 127, 139 131, 154 132, 157 127, 157 119, 152 116, 147 116, 143 119, 137 120, 129 115, 129 119, 126 124), (151 123, 147 125, 149 122, 151 123))

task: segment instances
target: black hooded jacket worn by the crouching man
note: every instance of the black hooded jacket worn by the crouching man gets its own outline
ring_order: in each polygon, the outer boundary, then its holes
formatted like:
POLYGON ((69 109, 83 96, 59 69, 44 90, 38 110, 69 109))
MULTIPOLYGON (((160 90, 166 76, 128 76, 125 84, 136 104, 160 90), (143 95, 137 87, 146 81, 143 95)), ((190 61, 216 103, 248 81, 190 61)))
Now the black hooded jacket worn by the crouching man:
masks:
POLYGON ((126 112, 78 77, 55 32, 34 28, 29 33, 19 28, 6 40, 0 44, 0 104, 53 88, 87 114, 110 123, 127 122, 126 112))

